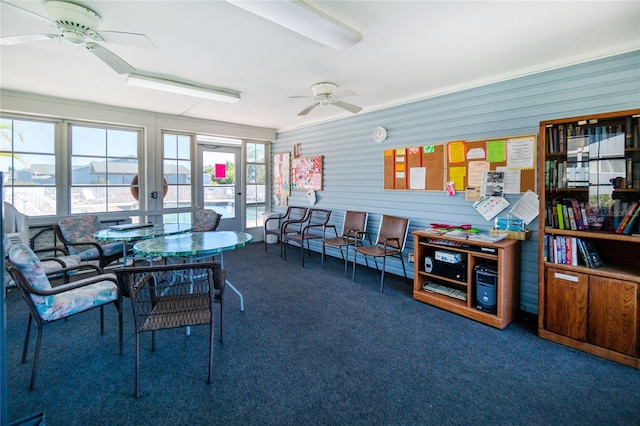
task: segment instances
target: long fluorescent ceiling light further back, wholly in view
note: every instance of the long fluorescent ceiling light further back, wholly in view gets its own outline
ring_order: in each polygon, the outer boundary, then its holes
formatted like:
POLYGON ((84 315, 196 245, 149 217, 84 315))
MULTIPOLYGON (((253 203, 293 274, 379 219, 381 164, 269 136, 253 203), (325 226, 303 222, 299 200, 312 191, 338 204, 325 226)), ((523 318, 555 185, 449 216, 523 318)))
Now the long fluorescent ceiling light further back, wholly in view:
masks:
POLYGON ((211 99, 213 101, 234 103, 240 100, 240 93, 215 87, 207 87, 165 78, 151 77, 143 74, 129 73, 127 84, 131 86, 146 87, 148 89, 163 90, 165 92, 181 95, 195 96, 197 98, 211 99))

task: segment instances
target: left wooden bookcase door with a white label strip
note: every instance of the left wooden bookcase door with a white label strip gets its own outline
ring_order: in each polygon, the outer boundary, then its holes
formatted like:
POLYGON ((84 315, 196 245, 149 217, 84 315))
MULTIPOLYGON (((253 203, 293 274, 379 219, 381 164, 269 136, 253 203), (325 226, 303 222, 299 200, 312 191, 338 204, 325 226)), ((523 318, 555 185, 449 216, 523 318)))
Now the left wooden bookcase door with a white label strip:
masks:
POLYGON ((546 329, 586 341, 589 276, 553 268, 546 274, 546 329))

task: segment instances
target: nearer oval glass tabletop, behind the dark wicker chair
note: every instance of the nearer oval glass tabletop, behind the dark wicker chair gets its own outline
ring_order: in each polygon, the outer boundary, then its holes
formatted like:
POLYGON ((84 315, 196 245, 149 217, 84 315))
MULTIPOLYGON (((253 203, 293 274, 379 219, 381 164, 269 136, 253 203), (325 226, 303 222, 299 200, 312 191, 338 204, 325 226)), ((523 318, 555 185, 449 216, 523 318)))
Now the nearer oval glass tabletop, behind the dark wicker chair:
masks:
POLYGON ((246 232, 190 232, 141 241, 133 251, 144 256, 202 256, 244 247, 252 240, 246 232))

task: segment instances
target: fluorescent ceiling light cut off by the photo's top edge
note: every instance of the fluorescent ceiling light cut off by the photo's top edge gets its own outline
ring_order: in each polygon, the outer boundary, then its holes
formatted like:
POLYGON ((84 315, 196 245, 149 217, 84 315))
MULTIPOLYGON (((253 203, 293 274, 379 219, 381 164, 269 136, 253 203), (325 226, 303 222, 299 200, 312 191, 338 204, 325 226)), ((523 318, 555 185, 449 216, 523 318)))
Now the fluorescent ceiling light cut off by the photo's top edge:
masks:
POLYGON ((362 41, 362 34, 303 1, 227 1, 337 50, 344 50, 362 41))

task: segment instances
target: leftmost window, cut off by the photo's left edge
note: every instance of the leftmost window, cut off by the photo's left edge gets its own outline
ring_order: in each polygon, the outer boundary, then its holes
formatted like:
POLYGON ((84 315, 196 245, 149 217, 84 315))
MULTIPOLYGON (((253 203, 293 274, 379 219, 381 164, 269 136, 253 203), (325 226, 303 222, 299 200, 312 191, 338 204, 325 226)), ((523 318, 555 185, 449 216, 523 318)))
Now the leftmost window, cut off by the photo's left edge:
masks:
POLYGON ((56 214, 56 124, 0 119, 2 199, 26 215, 56 214))

